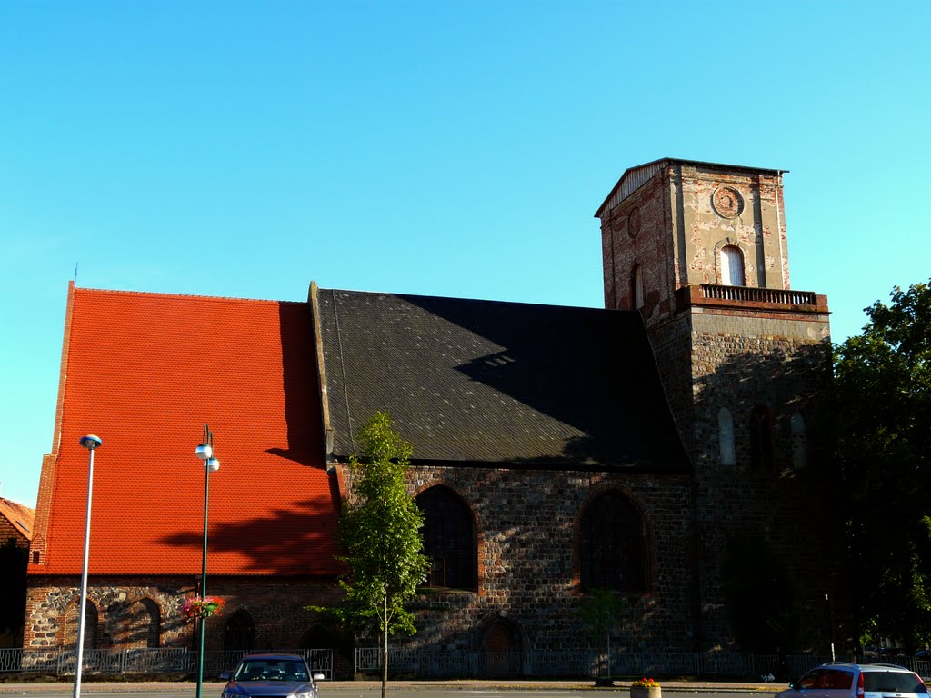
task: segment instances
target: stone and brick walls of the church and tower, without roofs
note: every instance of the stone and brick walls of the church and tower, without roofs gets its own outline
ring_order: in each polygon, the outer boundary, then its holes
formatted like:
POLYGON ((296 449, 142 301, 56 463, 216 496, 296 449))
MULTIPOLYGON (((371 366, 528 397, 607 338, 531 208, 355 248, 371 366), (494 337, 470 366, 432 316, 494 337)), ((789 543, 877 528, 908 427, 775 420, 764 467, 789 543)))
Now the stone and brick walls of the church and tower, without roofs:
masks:
MULTIPOLYGON (((448 488, 472 512, 478 583, 472 590, 425 592, 413 604, 419 632, 402 642, 456 651, 500 650, 502 642, 513 651, 590 646, 574 612, 581 594, 579 520, 589 501, 617 490, 641 514, 648 569, 647 590, 626 595, 615 646, 730 649, 722 554, 729 533, 755 531, 795 578, 811 611, 803 613, 799 649, 824 651, 827 631, 816 603, 828 592, 843 598, 832 553, 840 547, 831 544, 833 531, 803 474, 813 400, 830 379, 830 325, 822 296, 758 293, 789 291, 782 174, 681 160, 625 173, 596 214, 605 306, 641 312, 694 473, 417 462, 409 474, 413 495, 448 488), (739 250, 745 277, 722 300, 706 291, 721 285, 725 247, 739 250), (768 470, 751 458, 754 409, 771 420, 768 470), (492 627, 505 628, 493 642, 492 627)), ((335 467, 351 497, 352 473, 335 467)), ((43 545, 34 544, 34 555, 45 554, 43 545)), ((183 622, 180 608, 194 596, 195 581, 94 579, 89 600, 98 645, 134 646, 154 637, 162 647, 194 647, 193 625, 183 622)), ((34 581, 25 647, 74 641, 77 590, 76 578, 34 581)), ((297 648, 308 638, 317 643, 325 633, 304 606, 339 597, 335 580, 247 576, 212 578, 209 593, 224 597, 226 607, 208 621, 208 650, 223 649, 223 624, 238 611, 254 622, 255 649, 297 648)), ((843 638, 843 602, 836 617, 837 638, 843 638)))

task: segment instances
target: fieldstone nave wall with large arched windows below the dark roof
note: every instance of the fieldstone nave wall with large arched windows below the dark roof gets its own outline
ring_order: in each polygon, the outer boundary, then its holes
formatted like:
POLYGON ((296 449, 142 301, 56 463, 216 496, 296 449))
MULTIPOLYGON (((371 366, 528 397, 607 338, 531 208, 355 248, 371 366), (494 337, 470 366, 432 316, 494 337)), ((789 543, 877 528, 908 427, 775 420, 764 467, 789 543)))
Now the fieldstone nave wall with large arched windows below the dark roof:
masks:
MULTIPOLYGON (((649 530, 650 591, 627 595, 627 618, 613 643, 629 651, 691 651, 694 566, 687 477, 560 470, 416 465, 412 493, 441 485, 474 513, 476 591, 434 589, 415 600, 412 648, 479 651, 495 619, 519 630, 522 649, 587 647, 574 612, 579 600, 577 523, 590 498, 619 490, 649 530)), ((351 490, 352 474, 346 484, 351 490)))

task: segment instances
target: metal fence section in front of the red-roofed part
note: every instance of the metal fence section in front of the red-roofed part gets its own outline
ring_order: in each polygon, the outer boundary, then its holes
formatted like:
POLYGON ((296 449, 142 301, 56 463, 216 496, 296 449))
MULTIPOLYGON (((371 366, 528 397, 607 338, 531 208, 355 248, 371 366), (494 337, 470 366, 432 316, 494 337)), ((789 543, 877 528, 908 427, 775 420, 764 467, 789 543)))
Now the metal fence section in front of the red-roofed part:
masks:
MULTIPOLYGON (((300 654, 315 673, 333 678, 332 650, 281 650, 285 654, 300 654)), ((205 651, 204 675, 219 677, 232 671, 245 651, 205 651)), ((140 674, 149 676, 187 675, 196 672, 198 654, 183 649, 85 650, 82 673, 140 674)), ((71 648, 52 647, 45 650, 0 650, 0 673, 44 674, 63 676, 74 674, 77 652, 71 648)))

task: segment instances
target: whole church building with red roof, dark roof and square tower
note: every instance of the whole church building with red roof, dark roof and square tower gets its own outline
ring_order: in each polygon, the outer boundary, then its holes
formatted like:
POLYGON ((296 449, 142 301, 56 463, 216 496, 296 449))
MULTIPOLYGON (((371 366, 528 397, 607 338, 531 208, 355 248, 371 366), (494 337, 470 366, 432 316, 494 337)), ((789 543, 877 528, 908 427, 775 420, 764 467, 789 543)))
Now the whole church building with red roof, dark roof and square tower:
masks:
MULTIPOLYGON (((377 410, 414 448, 433 566, 412 610, 430 651, 571 651, 587 590, 627 601, 622 651, 735 649, 722 561, 752 537, 785 568, 797 647, 843 628, 830 528, 804 475, 830 380, 827 300, 791 289, 783 170, 662 159, 596 212, 603 310, 320 289, 266 302, 68 289, 24 647, 73 645, 95 451, 85 647, 193 646, 205 423, 209 650, 364 641, 339 597, 345 467, 377 410), (824 530, 818 541, 806 534, 824 530)), ((594 232, 593 232, 594 235, 594 232)))

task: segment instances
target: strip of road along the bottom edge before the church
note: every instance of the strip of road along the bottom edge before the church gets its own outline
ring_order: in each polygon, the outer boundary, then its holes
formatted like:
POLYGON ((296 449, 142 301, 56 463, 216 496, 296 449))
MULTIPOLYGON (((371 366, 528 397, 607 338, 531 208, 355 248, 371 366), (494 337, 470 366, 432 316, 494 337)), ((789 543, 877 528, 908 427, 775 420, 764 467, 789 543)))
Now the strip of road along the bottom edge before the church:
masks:
MULTIPOLYGON (((613 689, 596 689, 591 683, 568 681, 447 681, 399 682, 388 684, 390 698, 627 698, 629 684, 618 681, 613 689)), ((774 684, 736 684, 704 682, 664 682, 663 692, 675 698, 700 695, 701 698, 762 698, 783 687, 774 684)), ((204 698, 219 698, 223 683, 205 683, 204 698)), ((0 695, 45 696, 72 695, 71 683, 0 683, 0 695)), ((194 683, 84 683, 81 695, 108 698, 192 698, 194 683)), ((379 698, 381 684, 374 681, 339 681, 321 683, 320 698, 379 698)))

